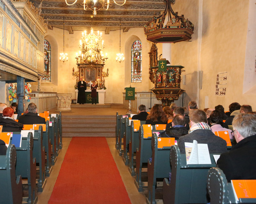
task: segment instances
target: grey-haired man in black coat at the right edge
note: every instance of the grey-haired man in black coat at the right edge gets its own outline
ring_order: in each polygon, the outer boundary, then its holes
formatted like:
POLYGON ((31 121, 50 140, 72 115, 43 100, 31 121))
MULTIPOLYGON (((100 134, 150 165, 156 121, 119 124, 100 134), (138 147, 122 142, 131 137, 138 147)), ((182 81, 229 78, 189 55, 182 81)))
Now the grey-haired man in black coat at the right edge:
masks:
POLYGON ((233 122, 237 144, 220 155, 217 165, 232 179, 256 179, 256 115, 240 114, 233 122))

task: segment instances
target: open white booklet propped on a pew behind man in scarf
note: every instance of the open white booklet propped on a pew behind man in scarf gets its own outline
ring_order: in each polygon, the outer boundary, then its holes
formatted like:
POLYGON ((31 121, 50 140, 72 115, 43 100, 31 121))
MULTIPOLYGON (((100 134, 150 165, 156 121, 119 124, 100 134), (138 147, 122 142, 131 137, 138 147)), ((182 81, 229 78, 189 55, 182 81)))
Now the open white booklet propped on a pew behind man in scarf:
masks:
POLYGON ((208 144, 185 143, 187 165, 211 164, 208 144))

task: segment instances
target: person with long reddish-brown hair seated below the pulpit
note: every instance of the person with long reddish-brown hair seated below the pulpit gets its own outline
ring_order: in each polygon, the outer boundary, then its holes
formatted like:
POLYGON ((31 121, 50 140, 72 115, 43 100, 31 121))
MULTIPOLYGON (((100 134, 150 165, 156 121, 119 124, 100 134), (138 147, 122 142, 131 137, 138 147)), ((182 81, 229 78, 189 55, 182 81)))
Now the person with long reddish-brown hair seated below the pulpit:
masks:
POLYGON ((155 104, 148 114, 146 124, 156 125, 156 124, 167 124, 168 118, 166 114, 163 112, 162 105, 155 104))

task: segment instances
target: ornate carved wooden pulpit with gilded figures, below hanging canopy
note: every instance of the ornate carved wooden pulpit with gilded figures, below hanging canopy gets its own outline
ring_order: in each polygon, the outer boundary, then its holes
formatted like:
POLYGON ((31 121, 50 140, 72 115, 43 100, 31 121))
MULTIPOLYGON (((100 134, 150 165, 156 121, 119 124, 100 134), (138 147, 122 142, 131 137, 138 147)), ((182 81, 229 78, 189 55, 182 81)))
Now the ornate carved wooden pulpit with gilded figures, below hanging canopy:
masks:
MULTIPOLYGON (((149 79, 155 85, 152 92, 158 100, 162 101, 163 105, 170 105, 174 100, 178 100, 180 95, 185 92, 185 90, 180 88, 181 72, 185 72, 185 70, 182 70, 184 67, 167 65, 166 71, 159 71, 155 43, 152 44, 149 52, 149 59, 149 79)), ((161 60, 165 61, 165 59, 161 60)), ((167 61, 167 64, 169 64, 169 61, 167 61)))

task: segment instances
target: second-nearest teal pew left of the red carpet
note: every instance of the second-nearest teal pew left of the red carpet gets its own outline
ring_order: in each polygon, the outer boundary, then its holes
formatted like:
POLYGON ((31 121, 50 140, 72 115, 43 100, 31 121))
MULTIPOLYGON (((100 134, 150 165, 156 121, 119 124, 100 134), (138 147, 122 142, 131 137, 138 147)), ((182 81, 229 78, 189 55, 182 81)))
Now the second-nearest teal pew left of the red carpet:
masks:
POLYGON ((33 157, 33 135, 28 133, 27 138, 22 138, 21 147, 16 147, 16 175, 21 175, 22 179, 27 178, 29 197, 26 200, 29 204, 37 203, 36 189, 36 159, 33 157))

